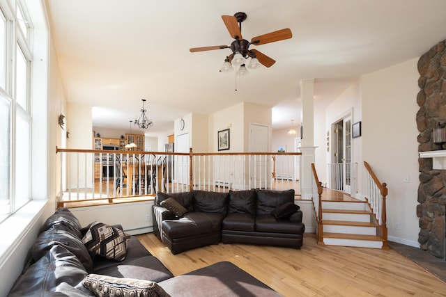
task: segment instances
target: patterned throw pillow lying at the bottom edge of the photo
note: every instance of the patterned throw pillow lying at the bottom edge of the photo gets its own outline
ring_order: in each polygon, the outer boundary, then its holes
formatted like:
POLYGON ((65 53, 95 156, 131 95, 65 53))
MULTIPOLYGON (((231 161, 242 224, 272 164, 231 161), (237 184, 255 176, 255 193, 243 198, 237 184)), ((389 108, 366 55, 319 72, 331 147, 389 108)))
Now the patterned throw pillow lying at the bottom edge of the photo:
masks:
POLYGON ((82 281, 95 296, 153 296, 170 297, 156 282, 134 278, 114 278, 108 275, 89 274, 82 281))

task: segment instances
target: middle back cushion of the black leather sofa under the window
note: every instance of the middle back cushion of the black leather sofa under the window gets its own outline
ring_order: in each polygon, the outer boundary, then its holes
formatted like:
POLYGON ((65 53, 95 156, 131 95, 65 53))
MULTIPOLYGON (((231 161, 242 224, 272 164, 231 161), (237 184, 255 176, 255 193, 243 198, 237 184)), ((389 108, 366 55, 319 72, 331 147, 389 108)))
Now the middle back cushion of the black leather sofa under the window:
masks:
POLYGON ((40 233, 31 247, 31 255, 33 256, 34 261, 38 261, 40 257, 43 257, 43 255, 56 245, 63 246, 72 252, 82 265, 84 265, 86 271, 93 271, 93 260, 90 257, 89 251, 84 246, 84 243, 65 230, 49 229, 40 233))

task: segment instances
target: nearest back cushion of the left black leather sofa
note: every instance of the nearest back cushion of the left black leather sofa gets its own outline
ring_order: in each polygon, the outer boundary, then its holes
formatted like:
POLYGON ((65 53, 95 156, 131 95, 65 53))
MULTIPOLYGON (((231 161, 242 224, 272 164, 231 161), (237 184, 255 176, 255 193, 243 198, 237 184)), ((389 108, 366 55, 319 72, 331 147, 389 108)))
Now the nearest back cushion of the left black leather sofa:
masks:
POLYGON ((82 286, 86 275, 72 252, 52 246, 17 279, 8 296, 91 296, 82 286))

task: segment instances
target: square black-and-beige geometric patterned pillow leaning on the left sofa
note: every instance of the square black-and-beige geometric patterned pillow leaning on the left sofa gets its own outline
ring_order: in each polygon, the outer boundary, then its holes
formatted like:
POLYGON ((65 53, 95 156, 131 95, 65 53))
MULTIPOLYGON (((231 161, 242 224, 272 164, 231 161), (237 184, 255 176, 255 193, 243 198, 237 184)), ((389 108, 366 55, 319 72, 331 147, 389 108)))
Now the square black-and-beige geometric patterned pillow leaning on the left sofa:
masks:
POLYGON ((92 223, 82 238, 87 250, 116 261, 123 261, 127 256, 128 240, 130 235, 121 229, 98 222, 92 223))

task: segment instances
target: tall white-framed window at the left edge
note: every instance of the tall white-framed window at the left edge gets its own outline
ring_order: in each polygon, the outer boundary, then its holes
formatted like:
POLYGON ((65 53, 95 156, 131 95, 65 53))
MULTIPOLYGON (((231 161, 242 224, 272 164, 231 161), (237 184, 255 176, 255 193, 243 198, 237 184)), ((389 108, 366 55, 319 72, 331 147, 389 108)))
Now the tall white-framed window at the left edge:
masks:
POLYGON ((32 193, 32 28, 24 1, 0 2, 0 222, 32 193))

